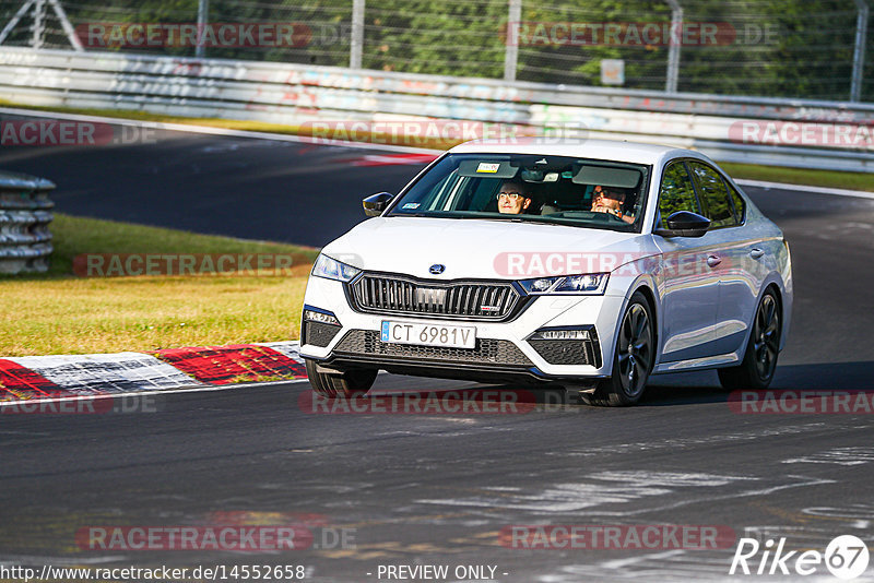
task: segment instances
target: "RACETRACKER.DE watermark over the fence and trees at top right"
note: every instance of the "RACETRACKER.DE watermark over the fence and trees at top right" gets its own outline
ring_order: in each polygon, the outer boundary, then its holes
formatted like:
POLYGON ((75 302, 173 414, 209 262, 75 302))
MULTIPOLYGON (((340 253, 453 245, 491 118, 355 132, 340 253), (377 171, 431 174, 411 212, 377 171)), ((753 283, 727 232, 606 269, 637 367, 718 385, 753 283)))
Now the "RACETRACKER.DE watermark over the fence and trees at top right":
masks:
POLYGON ((777 24, 728 22, 510 22, 501 28, 508 46, 524 47, 725 47, 776 45, 777 24))

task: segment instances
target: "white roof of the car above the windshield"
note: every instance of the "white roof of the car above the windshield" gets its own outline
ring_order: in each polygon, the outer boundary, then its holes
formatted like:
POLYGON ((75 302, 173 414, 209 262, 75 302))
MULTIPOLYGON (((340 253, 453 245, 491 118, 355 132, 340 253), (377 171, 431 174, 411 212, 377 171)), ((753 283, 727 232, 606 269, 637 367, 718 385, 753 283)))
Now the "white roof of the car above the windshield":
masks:
POLYGON ((692 150, 624 140, 559 140, 550 138, 473 140, 459 144, 449 152, 452 154, 492 153, 571 156, 653 165, 662 159, 676 157, 694 157, 710 162, 702 154, 692 150))

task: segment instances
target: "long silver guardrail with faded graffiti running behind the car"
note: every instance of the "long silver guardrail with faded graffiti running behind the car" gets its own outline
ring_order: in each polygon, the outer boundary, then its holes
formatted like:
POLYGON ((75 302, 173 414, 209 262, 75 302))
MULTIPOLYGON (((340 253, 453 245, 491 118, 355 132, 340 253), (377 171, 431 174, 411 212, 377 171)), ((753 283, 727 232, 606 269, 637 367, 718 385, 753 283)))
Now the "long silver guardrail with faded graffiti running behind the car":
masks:
POLYGON ((29 105, 292 126, 315 120, 453 119, 529 129, 572 127, 578 134, 697 148, 723 162, 874 171, 874 132, 864 134, 874 128, 872 104, 668 96, 275 62, 14 47, 0 47, 0 98, 29 105), (767 128, 769 121, 775 128, 767 128), (747 140, 739 126, 744 123, 754 124, 754 130, 760 124, 763 136, 777 132, 778 145, 747 140), (779 134, 792 123, 804 124, 791 132, 798 145, 779 134), (836 139, 838 126, 855 141, 836 139), (804 132, 812 140, 805 142, 804 132))

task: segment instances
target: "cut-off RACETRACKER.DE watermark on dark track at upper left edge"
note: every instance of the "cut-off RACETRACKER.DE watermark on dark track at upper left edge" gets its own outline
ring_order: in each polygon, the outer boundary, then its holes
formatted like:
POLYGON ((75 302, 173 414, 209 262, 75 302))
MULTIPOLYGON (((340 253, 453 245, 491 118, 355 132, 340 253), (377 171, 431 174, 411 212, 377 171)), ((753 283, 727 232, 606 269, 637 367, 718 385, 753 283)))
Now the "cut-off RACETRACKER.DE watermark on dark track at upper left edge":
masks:
POLYGON ((105 146, 156 142, 155 128, 147 124, 113 126, 61 119, 0 120, 0 145, 4 146, 105 146))

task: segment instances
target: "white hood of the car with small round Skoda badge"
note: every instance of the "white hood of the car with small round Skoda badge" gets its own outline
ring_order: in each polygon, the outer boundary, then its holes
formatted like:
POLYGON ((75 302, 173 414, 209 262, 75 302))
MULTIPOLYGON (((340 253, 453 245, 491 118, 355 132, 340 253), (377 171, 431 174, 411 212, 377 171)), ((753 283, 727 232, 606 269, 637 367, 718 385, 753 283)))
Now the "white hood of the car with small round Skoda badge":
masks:
POLYGON ((375 217, 322 252, 365 271, 433 279, 522 279, 611 271, 658 249, 652 237, 634 233, 509 221, 375 217), (432 265, 445 270, 433 274, 432 265))

